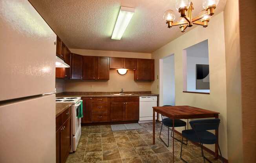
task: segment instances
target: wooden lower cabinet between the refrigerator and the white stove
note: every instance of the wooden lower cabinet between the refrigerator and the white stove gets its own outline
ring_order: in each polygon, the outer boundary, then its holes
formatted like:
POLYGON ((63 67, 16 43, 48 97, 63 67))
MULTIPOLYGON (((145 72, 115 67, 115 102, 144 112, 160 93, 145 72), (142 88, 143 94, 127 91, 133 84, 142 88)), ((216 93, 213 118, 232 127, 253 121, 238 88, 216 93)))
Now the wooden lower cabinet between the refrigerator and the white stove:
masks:
POLYGON ((71 116, 67 114, 69 111, 71 111, 71 107, 56 118, 56 124, 62 122, 62 125, 56 131, 56 163, 65 163, 71 149, 71 116), (67 115, 68 118, 66 118, 67 115))

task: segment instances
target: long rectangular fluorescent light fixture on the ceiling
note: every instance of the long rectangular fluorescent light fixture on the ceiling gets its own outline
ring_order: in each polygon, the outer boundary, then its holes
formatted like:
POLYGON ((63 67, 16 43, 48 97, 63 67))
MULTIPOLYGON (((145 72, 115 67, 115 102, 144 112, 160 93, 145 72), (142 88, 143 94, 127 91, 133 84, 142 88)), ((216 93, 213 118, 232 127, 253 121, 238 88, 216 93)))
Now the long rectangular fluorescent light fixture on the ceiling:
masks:
POLYGON ((115 22, 115 28, 111 39, 121 40, 126 27, 128 26, 130 20, 132 19, 133 14, 134 8, 121 7, 117 17, 117 22, 115 22))

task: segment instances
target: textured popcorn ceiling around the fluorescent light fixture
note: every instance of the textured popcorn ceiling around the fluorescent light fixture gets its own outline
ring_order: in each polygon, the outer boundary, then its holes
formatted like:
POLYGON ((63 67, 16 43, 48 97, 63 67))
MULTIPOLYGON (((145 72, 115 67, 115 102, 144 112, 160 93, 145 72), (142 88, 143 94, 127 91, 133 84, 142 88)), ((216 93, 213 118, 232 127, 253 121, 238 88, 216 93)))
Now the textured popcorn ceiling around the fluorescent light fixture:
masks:
MULTIPOLYGON (((71 49, 151 53, 182 34, 177 26, 168 29, 163 20, 167 9, 174 10, 176 20, 179 18, 175 0, 29 1, 71 49), (120 6, 135 8, 135 14, 122 39, 112 40, 120 6)), ((225 2, 220 0, 216 14, 223 11, 225 2)), ((203 9, 201 0, 193 0, 193 4, 196 15, 203 9)))

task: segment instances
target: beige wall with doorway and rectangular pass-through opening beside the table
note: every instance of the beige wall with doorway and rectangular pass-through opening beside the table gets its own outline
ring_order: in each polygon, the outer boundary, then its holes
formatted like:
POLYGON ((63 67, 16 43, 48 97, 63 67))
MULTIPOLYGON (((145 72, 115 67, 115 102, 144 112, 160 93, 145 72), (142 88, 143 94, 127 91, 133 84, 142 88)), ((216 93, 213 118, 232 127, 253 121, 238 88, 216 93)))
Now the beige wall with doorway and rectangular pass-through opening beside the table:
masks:
MULTIPOLYGON (((176 105, 191 105, 220 112, 219 144, 223 156, 227 158, 227 96, 223 12, 212 17, 207 28, 198 26, 153 52, 152 59, 155 59, 155 76, 159 75, 159 59, 170 54, 174 54, 175 62, 176 105), (183 93, 182 50, 207 39, 210 94, 183 93)), ((155 77, 155 79, 157 78, 155 77)), ((159 93, 158 85, 159 80, 155 80, 152 83, 151 90, 153 93, 159 93)), ((159 98, 161 98, 161 95, 159 98)), ((207 147, 214 150, 214 145, 207 147)))

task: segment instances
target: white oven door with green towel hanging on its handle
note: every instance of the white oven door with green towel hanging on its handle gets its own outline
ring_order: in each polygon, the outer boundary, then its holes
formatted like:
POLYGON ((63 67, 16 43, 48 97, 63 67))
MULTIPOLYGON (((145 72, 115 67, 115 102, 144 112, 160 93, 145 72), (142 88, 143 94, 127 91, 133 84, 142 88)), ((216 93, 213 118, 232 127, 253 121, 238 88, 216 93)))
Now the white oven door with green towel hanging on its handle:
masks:
POLYGON ((77 130, 79 129, 81 125, 81 118, 78 118, 79 114, 79 107, 81 105, 82 100, 79 100, 76 104, 72 105, 72 132, 73 136, 77 134, 77 130))

